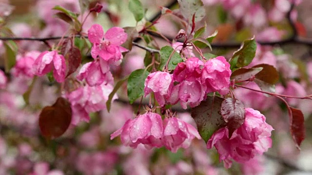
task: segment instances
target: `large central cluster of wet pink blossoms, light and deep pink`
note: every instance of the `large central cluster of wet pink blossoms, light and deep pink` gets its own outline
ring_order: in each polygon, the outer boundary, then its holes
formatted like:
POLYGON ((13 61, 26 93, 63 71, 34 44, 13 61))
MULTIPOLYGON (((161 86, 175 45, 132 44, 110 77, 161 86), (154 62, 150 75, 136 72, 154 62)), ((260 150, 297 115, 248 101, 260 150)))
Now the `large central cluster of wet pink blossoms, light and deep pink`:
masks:
POLYGON ((230 88, 230 64, 223 56, 206 63, 196 57, 188 58, 176 66, 173 74, 157 71, 145 80, 145 96, 152 91, 159 105, 175 105, 180 102, 195 107, 205 100, 207 93, 219 92, 225 95, 230 88), (178 83, 174 85, 174 82, 178 83))

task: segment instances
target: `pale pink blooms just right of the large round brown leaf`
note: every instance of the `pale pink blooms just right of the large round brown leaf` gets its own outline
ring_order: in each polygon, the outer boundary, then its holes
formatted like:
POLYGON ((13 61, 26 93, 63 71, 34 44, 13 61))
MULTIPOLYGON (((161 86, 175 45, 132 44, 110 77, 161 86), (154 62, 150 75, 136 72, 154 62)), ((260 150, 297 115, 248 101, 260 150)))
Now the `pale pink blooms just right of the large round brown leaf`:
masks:
MULTIPOLYGON (((110 84, 101 84, 94 87, 86 85, 65 94, 65 97, 71 103, 73 111, 71 123, 77 125, 80 121, 89 122, 89 113, 106 109, 106 101, 113 88, 110 84)), ((113 100, 115 99, 117 99, 116 94, 113 97, 113 100)))

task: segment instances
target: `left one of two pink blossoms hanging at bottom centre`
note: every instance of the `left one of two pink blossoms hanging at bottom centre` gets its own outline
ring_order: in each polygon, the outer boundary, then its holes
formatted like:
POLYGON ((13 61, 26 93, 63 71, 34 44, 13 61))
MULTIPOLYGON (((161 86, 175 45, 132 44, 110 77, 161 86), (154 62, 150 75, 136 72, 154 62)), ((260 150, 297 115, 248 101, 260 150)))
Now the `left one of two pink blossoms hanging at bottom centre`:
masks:
POLYGON ((161 116, 157 113, 147 112, 129 119, 120 129, 111 134, 111 140, 120 135, 125 146, 136 148, 142 143, 146 146, 161 147, 163 137, 161 116))

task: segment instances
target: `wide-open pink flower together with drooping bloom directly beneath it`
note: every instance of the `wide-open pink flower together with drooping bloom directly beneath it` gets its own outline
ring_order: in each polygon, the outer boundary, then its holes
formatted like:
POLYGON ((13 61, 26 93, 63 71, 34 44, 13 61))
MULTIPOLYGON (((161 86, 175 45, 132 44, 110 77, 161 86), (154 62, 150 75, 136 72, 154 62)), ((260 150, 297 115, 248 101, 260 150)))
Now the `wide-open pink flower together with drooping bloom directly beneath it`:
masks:
POLYGON ((128 50, 121 47, 127 39, 127 34, 122 28, 113 27, 105 35, 99 24, 94 24, 88 30, 88 38, 93 44, 91 55, 93 62, 85 64, 79 71, 77 79, 86 80, 89 86, 98 86, 113 82, 109 65, 119 65, 123 52, 128 50))

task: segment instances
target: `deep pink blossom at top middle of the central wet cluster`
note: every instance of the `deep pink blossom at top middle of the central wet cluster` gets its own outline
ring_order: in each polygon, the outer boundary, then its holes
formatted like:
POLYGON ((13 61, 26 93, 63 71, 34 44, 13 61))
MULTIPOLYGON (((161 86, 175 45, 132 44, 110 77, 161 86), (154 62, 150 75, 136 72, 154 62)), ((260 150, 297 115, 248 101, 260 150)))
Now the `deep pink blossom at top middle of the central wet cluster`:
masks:
POLYGON ((173 78, 177 82, 195 81, 200 77, 201 67, 204 63, 196 57, 188 58, 185 62, 178 63, 173 73, 173 78))

